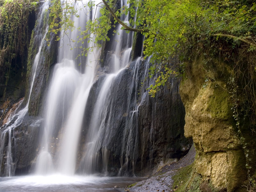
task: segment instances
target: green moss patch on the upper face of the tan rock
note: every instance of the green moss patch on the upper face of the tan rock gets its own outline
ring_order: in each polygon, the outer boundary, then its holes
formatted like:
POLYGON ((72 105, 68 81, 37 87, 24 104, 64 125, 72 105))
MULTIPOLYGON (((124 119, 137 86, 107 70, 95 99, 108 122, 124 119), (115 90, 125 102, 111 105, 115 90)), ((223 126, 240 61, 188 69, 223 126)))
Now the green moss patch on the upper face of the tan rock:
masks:
POLYGON ((224 120, 233 119, 231 111, 230 95, 220 86, 214 88, 213 95, 209 100, 208 109, 212 117, 224 120))

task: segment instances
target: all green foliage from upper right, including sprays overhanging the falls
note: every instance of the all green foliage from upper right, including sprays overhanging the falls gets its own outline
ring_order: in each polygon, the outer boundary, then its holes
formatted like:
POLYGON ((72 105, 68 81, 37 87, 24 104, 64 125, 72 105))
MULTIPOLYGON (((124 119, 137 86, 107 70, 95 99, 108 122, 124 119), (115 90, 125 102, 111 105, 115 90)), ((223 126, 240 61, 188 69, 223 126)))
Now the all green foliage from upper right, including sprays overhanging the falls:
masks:
MULTIPOLYGON (((58 0, 52 0, 50 30, 54 33, 62 30, 65 34, 74 29, 71 16, 79 17, 78 10, 73 6, 76 2, 64 1, 61 4, 58 0)), ((250 114, 251 122, 255 124, 255 1, 128 0, 129 7, 124 6, 119 10, 115 9, 114 0, 102 2, 106 6, 90 1, 82 7, 87 10, 95 6, 101 8, 101 16, 89 20, 82 26, 83 30, 79 28, 81 34, 77 44, 81 46, 77 48, 81 49, 81 54, 78 56, 86 56, 93 47, 100 47, 102 41, 108 41, 108 31, 117 22, 128 31, 130 26, 137 26, 133 31, 145 35, 144 55, 151 56, 155 63, 150 68, 149 76, 158 73, 156 83, 149 89, 152 97, 168 82, 170 75, 184 73, 186 63, 194 60, 198 54, 205 58, 206 70, 214 66, 214 58, 221 56, 223 62, 235 64, 231 74, 245 96, 245 106, 250 106, 241 110, 247 111, 243 113, 250 114), (110 13, 115 18, 114 22, 111 22, 110 13), (128 27, 117 18, 122 14, 130 14, 128 27), (92 42, 92 46, 84 48, 85 42, 92 42), (243 82, 238 83, 241 78, 243 82)))

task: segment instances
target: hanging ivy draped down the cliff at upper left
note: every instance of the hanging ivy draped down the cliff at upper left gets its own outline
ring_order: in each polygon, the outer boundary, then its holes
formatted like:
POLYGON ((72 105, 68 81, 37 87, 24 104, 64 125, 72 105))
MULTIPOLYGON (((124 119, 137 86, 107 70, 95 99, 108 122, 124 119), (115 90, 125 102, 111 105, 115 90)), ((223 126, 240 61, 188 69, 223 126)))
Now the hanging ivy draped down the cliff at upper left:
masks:
POLYGON ((11 64, 18 55, 23 60, 25 47, 28 47, 28 18, 36 6, 34 0, 0 0, 0 80, 5 79, 4 96, 11 64))

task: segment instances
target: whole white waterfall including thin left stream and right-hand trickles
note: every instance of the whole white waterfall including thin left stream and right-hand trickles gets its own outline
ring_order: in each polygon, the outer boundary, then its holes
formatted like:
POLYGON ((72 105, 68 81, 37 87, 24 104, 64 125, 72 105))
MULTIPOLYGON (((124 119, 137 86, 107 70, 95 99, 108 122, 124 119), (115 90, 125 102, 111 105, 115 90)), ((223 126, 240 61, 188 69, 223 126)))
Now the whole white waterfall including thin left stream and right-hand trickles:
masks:
MULTIPOLYGON (((120 1, 121 7, 130 6, 127 0, 120 1)), ((90 11, 84 9, 84 5, 89 2, 90 0, 74 2, 74 9, 78 11, 77 14, 80 17, 72 15, 75 29, 61 32, 58 60, 54 67, 50 68, 51 76, 49 76, 49 85, 47 84, 47 92, 42 104, 43 130, 38 152, 36 152, 38 156, 33 157, 36 162, 35 173, 38 177, 42 177, 41 175, 50 177, 49 175, 56 173, 67 177, 75 177, 75 173, 136 176, 138 170, 145 169, 147 166, 151 166, 149 168, 151 169, 152 164, 156 164, 154 161, 151 162, 156 151, 162 145, 161 143, 167 143, 167 139, 160 138, 163 135, 155 136, 159 127, 168 129, 169 124, 162 126, 162 122, 159 123, 161 120, 158 118, 162 111, 156 108, 157 104, 152 104, 154 102, 148 96, 147 88, 154 81, 147 78, 151 58, 144 60, 142 51, 138 51, 136 54, 139 55, 141 52, 140 57, 131 61, 133 32, 126 33, 121 29, 121 25, 117 24, 117 32, 111 37, 112 41, 106 43, 108 49, 103 50, 106 52, 102 54, 101 49, 93 43, 94 34, 90 34, 91 40, 85 39, 81 44, 82 48, 95 48, 86 56, 78 57, 81 52, 75 47, 77 41, 83 38, 80 30, 89 20, 100 17, 100 7, 97 9, 94 7, 90 11), (106 57, 103 66, 99 62, 102 55, 106 57), (146 116, 145 119, 140 113, 146 116), (158 127, 155 126, 155 122, 158 127)), ((95 4, 100 2, 101 0, 96 0, 95 4)), ((39 68, 37 69, 37 64, 42 46, 45 44, 48 26, 43 31, 38 26, 43 28, 44 12, 48 7, 47 1, 42 5, 37 20, 36 36, 40 37, 41 43, 31 70, 28 102, 25 108, 13 112, 14 115, 11 115, 9 122, 4 125, 6 129, 0 138, 0 170, 4 146, 7 146, 5 149, 7 151, 5 175, 7 176, 12 176, 15 170, 15 161, 13 161, 15 148, 13 149, 12 146, 15 146, 16 141, 13 129, 22 122, 28 112, 36 70, 40 71, 39 68)), ((128 26, 131 25, 129 13, 122 14, 121 20, 128 26)), ((166 98, 170 94, 172 91, 169 89, 166 98)), ((163 102, 161 98, 160 101, 163 102)), ((168 104, 170 105, 171 102, 168 104)), ((166 108, 169 107, 166 106, 166 108)), ((169 110, 166 111, 167 118, 175 116, 169 110)), ((182 127, 182 123, 183 120, 178 119, 173 126, 178 127, 181 124, 180 127, 182 127)), ((175 135, 173 138, 180 134, 166 132, 175 135)), ((164 158, 165 154, 172 150, 175 153, 179 148, 173 149, 169 145, 157 155, 164 158)))

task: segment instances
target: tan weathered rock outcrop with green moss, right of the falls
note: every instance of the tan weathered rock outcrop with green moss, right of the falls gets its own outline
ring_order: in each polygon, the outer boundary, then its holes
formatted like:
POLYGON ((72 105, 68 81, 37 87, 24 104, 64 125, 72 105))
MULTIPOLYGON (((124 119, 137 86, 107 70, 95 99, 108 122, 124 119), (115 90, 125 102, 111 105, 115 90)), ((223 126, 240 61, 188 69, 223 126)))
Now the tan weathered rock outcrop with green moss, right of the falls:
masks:
POLYGON ((194 173, 215 188, 231 192, 246 179, 246 161, 232 117, 227 80, 217 80, 220 74, 206 72, 202 60, 196 60, 190 65, 190 78, 180 85, 180 96, 186 110, 185 136, 193 138, 196 148, 194 173))

